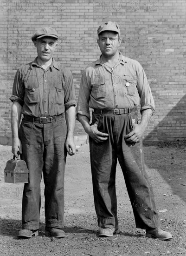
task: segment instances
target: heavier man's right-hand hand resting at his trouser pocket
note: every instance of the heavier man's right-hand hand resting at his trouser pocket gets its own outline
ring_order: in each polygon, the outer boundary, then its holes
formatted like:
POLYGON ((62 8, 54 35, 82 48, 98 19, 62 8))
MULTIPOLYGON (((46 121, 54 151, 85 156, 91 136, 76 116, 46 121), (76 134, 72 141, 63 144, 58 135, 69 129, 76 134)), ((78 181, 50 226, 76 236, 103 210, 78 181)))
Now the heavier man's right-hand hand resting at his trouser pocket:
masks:
POLYGON ((124 136, 125 141, 129 143, 140 142, 141 137, 145 131, 145 127, 141 126, 140 124, 133 124, 133 130, 124 136))

